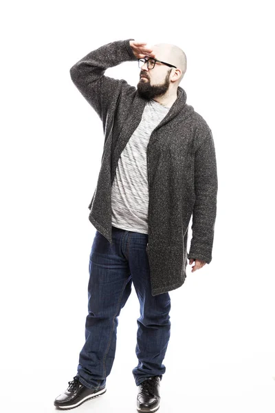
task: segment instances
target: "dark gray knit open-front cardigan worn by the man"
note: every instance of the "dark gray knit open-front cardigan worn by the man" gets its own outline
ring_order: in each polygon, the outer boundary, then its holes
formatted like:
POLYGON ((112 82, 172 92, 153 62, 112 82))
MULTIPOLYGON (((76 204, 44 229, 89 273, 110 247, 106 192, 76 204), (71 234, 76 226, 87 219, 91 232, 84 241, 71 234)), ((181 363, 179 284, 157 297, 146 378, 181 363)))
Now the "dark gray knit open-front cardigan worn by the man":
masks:
MULTIPOLYGON (((111 244, 111 184, 120 155, 140 123, 146 99, 136 87, 104 72, 124 61, 134 61, 137 65, 130 40, 103 45, 70 69, 74 85, 102 120, 104 149, 89 204, 89 221, 111 244)), ((146 252, 151 293, 155 296, 184 284, 187 258, 208 264, 212 260, 218 187, 214 142, 206 120, 186 104, 186 92, 181 87, 168 114, 153 130, 146 151, 149 187, 146 252), (191 216, 192 238, 187 253, 191 216)))

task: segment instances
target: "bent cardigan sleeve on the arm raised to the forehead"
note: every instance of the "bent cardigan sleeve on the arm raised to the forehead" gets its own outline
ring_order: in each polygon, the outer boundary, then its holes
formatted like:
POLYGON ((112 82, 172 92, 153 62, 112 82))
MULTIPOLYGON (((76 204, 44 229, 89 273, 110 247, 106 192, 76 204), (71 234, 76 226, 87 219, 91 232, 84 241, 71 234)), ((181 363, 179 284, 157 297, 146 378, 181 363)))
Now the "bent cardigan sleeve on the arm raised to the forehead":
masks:
POLYGON ((69 70, 74 85, 95 109, 100 119, 115 107, 118 96, 135 87, 123 79, 118 80, 104 75, 108 67, 124 61, 137 61, 130 46, 130 40, 114 41, 103 45, 80 59, 69 70))

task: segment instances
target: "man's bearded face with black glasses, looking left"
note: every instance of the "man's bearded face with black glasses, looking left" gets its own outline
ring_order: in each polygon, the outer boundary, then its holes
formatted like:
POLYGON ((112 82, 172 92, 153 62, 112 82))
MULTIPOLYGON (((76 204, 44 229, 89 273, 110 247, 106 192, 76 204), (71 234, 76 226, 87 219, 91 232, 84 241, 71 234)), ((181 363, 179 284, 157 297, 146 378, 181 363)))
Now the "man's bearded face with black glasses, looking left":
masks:
POLYGON ((171 71, 172 67, 157 62, 153 69, 148 70, 146 63, 144 63, 140 70, 140 81, 137 83, 140 96, 150 100, 156 96, 164 95, 170 86, 171 71))

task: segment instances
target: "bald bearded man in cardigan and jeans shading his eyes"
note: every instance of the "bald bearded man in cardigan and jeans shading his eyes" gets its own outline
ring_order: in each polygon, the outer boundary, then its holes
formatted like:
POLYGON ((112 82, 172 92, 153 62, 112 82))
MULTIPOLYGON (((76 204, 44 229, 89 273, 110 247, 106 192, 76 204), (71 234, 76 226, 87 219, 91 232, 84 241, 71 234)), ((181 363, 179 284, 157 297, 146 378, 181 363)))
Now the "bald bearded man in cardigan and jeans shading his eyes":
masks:
POLYGON ((89 204, 96 236, 89 257, 86 341, 74 380, 54 401, 60 409, 106 392, 118 315, 132 282, 140 301, 138 365, 132 371, 139 386, 137 410, 159 408, 170 338, 168 291, 184 284, 187 258, 192 272, 212 260, 217 207, 212 132, 186 104, 179 87, 185 72, 186 56, 179 47, 150 47, 134 39, 99 47, 70 70, 102 120, 104 149, 89 204), (137 88, 104 75, 124 61, 138 61, 137 88))

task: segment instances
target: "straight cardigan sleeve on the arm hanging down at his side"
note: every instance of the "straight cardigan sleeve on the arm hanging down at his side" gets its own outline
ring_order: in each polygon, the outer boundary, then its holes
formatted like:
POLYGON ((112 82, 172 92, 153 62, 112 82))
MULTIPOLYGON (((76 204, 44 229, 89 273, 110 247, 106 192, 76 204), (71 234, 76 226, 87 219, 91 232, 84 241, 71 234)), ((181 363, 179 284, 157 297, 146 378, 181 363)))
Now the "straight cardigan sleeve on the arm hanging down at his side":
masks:
POLYGON ((217 162, 212 131, 195 152, 195 205, 192 213, 192 238, 188 259, 209 264, 212 260, 214 223, 217 213, 217 162))

